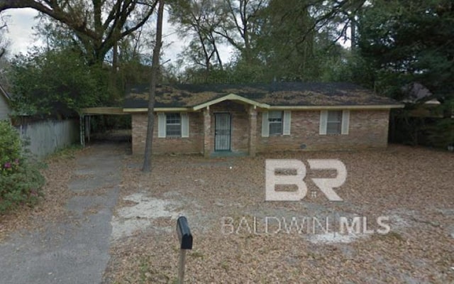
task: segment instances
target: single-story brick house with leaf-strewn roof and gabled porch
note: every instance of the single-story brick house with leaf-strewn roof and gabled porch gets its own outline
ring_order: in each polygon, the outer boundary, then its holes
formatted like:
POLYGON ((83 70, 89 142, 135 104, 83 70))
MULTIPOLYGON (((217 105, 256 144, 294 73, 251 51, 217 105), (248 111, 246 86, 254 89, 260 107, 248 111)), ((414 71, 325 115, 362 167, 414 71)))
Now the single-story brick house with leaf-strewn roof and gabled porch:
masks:
MULTIPOLYGON (((134 154, 143 153, 148 88, 133 87, 134 154)), ((182 84, 157 88, 153 153, 264 153, 387 146, 403 104, 348 83, 182 84)))

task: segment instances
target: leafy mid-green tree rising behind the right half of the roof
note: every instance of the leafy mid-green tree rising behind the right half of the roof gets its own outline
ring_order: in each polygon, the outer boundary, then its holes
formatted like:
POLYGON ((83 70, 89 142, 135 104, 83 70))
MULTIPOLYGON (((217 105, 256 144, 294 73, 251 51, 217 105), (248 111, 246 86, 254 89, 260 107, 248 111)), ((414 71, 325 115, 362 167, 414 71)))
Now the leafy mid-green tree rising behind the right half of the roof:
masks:
POLYGON ((240 55, 236 70, 243 77, 255 74, 255 80, 267 82, 320 80, 326 62, 341 56, 336 41, 345 33, 336 29, 340 23, 346 24, 347 18, 341 21, 339 15, 350 7, 333 2, 267 1, 256 13, 255 33, 250 35, 253 60, 247 62, 240 55))

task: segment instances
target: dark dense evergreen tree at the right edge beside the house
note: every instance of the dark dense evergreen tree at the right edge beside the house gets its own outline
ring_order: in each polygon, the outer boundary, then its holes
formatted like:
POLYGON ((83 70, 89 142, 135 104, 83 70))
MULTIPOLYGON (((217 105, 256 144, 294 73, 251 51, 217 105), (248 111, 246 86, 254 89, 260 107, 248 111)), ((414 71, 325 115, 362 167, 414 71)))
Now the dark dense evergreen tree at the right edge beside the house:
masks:
POLYGON ((453 26, 454 3, 448 0, 376 0, 359 17, 360 54, 373 67, 379 92, 404 99, 413 89, 408 86, 420 83, 432 95, 417 103, 441 102, 443 118, 436 123, 409 118, 407 109, 414 104, 395 115, 396 133, 407 133, 412 143, 420 143, 423 134, 432 146, 454 144, 453 26))

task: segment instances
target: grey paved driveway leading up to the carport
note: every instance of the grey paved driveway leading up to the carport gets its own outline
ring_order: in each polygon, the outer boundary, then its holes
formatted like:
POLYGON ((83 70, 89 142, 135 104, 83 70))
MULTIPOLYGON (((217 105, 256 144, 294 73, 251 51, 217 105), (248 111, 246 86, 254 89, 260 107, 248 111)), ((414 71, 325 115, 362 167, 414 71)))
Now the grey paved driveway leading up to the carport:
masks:
POLYGON ((0 244, 1 284, 101 283, 126 151, 114 143, 93 147, 92 155, 77 158, 68 188, 79 194, 67 203, 68 219, 0 244))

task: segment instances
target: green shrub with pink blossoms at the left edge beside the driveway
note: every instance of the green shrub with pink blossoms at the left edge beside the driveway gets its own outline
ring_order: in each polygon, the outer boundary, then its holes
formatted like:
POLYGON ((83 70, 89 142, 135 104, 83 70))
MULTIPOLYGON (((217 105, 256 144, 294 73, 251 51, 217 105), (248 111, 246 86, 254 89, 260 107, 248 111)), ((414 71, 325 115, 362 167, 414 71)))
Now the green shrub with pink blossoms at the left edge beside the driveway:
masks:
POLYGON ((44 183, 38 165, 24 158, 16 129, 0 121, 0 213, 38 202, 44 183))

